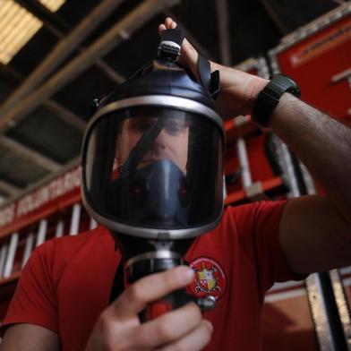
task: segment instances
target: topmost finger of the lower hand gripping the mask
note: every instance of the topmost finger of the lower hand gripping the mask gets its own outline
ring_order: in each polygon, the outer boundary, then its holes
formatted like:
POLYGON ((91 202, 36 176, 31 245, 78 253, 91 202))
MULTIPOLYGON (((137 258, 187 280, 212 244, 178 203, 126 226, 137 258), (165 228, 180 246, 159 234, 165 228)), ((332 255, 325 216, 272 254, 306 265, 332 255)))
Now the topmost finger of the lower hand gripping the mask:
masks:
POLYGON ((146 304, 186 287, 192 280, 193 270, 186 266, 152 274, 137 280, 124 290, 110 308, 116 311, 118 319, 132 317, 141 312, 146 304))

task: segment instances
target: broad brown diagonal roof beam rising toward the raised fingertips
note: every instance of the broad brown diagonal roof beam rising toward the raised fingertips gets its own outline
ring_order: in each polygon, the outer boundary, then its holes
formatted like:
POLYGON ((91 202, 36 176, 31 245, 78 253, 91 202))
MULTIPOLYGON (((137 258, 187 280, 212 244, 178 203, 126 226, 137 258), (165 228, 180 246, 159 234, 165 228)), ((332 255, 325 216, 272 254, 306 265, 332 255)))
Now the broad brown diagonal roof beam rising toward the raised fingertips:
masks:
MULTIPOLYGON (((34 90, 26 98, 23 98, 21 104, 16 104, 15 106, 11 104, 12 108, 8 111, 6 108, 5 113, 4 110, 1 109, 0 130, 4 131, 11 126, 11 124, 28 116, 30 112, 39 107, 47 98, 50 98, 65 84, 69 81, 73 81, 74 78, 83 73, 99 57, 107 55, 114 47, 124 41, 126 35, 130 36, 135 30, 138 30, 147 21, 150 21, 150 18, 155 14, 164 10, 165 7, 172 6, 178 2, 179 0, 145 0, 142 2, 121 21, 118 21, 110 30, 107 30, 107 32, 91 44, 90 47, 87 47, 84 52, 74 57, 68 64, 65 64, 60 71, 55 73, 37 90, 34 90)), ((94 21, 94 19, 90 17, 90 21, 94 21)), ((52 56, 51 59, 54 60, 55 56, 52 56)), ((7 106, 9 105, 7 104, 7 106)))

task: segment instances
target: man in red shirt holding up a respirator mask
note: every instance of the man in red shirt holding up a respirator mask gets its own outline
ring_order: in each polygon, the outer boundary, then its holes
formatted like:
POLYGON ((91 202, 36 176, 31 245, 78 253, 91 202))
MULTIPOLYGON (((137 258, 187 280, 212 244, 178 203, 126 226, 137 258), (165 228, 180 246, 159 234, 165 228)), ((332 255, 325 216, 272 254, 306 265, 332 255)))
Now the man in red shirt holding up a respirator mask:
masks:
MULTIPOLYGON (((167 19, 159 30, 165 28, 175 22, 167 19)), ((196 75, 197 53, 187 41, 183 60, 196 75)), ((211 66, 220 72, 221 116, 251 113, 268 81, 211 66)), ((202 285, 201 275, 178 267, 141 278, 109 306, 115 272, 108 267, 116 267, 120 256, 107 230, 47 242, 23 271, 1 349, 258 349, 263 295, 274 281, 351 264, 350 129, 288 93, 269 127, 309 167, 326 196, 227 209, 185 257, 193 270, 209 275, 207 281, 215 275, 214 285, 202 285), (140 323, 145 304, 181 287, 195 295, 210 291, 216 309, 201 315, 187 304, 140 323)))

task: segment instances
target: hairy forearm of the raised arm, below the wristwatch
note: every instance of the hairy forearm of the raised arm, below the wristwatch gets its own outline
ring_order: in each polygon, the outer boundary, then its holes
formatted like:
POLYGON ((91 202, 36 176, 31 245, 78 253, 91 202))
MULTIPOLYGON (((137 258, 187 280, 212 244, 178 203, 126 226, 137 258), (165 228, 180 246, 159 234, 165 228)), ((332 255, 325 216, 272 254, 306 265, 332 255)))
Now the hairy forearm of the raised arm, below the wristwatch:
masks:
POLYGON ((284 94, 270 129, 295 152, 351 226, 351 129, 284 94))

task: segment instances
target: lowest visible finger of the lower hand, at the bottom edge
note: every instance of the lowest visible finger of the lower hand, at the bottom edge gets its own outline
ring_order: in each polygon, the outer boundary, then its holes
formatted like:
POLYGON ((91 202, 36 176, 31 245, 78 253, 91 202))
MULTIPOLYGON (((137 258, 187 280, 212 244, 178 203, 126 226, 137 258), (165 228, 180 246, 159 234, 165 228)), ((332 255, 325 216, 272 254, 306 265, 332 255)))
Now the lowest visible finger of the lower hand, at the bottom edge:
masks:
POLYGON ((180 338, 175 343, 159 348, 161 351, 192 350, 198 351, 210 342, 212 335, 212 324, 210 321, 201 321, 199 327, 180 338))

